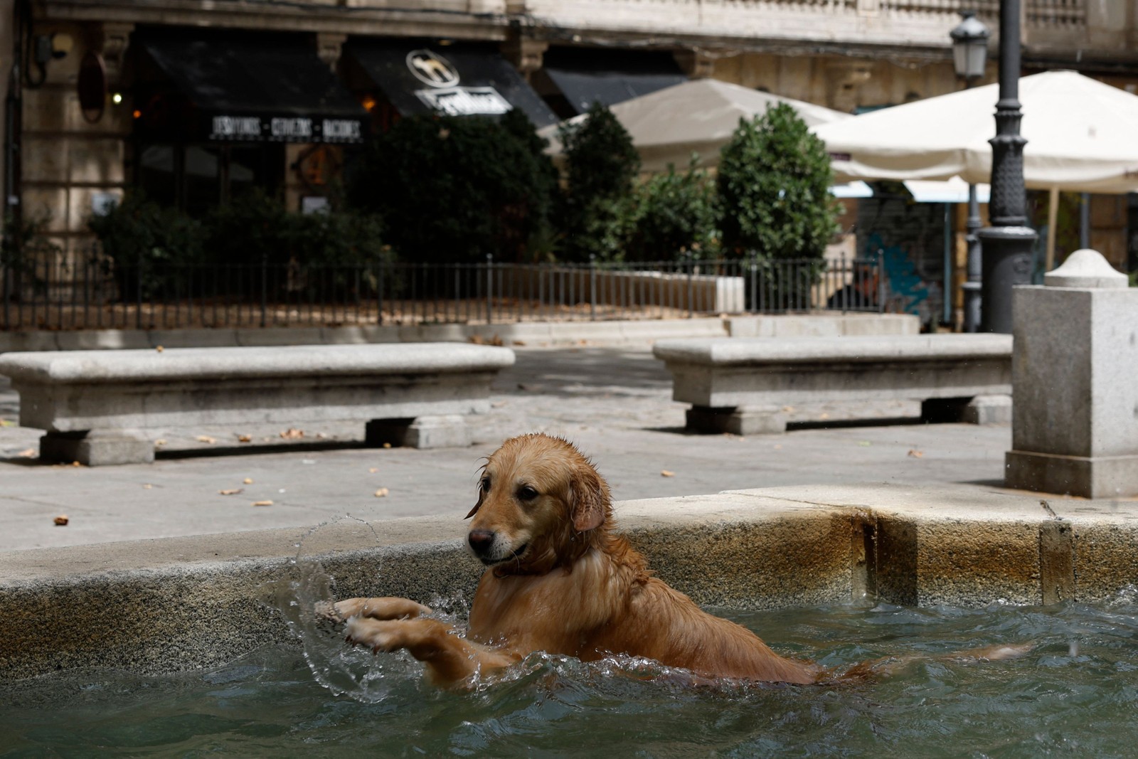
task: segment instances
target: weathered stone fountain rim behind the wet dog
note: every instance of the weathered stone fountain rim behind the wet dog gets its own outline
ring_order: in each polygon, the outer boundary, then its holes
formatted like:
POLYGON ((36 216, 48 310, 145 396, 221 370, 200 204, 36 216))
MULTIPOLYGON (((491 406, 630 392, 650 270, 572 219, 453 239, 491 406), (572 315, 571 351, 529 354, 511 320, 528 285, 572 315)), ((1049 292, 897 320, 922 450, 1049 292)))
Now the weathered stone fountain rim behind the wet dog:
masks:
MULTIPOLYGON (((706 605, 1096 601, 1138 583, 1138 504, 968 486, 816 486, 617 504, 655 572, 706 605)), ((0 554, 0 679, 195 669, 295 644, 266 603, 319 561, 335 594, 470 599, 457 517, 0 554)))

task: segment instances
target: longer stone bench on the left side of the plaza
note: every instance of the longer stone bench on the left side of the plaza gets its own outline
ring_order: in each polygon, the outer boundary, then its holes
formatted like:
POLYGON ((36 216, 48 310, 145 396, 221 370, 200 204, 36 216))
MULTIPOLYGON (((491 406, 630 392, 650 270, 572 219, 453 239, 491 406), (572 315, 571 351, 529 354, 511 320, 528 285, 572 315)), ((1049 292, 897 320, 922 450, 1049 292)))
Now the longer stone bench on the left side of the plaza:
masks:
POLYGON ((69 350, 0 355, 40 457, 154 461, 157 432, 208 424, 366 422, 366 444, 470 445, 509 348, 455 343, 69 350))

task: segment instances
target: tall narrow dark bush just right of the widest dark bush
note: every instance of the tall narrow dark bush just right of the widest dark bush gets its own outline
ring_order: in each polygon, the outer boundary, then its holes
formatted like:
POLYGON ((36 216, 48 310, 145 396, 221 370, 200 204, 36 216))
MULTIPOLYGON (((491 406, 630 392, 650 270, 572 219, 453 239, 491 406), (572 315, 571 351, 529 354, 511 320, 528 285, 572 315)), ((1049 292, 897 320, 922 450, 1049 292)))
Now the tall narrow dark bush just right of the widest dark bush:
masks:
POLYGON ((602 261, 622 257, 636 215, 634 185, 640 155, 632 138, 605 106, 593 104, 587 118, 562 124, 566 184, 561 213, 566 257, 602 261))

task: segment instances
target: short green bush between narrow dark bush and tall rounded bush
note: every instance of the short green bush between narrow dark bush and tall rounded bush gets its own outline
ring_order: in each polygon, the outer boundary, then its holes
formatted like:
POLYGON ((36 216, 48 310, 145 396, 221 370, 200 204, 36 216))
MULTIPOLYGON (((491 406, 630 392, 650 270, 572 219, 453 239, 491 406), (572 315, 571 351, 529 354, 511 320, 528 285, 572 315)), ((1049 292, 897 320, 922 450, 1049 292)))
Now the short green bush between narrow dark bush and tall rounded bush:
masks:
POLYGON ((625 242, 626 261, 674 261, 685 255, 718 255, 718 207, 707 172, 668 166, 636 188, 625 242))

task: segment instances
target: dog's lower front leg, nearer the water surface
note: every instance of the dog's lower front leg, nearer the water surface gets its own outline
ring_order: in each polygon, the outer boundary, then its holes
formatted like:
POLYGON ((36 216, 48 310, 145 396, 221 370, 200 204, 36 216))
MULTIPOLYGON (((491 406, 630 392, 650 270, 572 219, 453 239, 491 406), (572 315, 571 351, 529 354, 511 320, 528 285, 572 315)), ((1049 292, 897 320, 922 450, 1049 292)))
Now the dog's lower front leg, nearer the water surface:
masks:
POLYGON ((508 652, 459 637, 453 627, 437 619, 353 617, 348 620, 347 640, 376 652, 406 649, 426 665, 427 678, 440 687, 463 685, 475 675, 485 675, 518 661, 518 657, 508 652))

